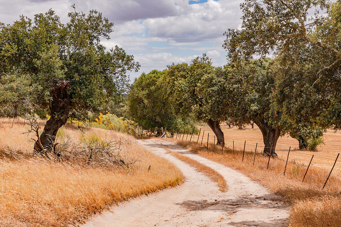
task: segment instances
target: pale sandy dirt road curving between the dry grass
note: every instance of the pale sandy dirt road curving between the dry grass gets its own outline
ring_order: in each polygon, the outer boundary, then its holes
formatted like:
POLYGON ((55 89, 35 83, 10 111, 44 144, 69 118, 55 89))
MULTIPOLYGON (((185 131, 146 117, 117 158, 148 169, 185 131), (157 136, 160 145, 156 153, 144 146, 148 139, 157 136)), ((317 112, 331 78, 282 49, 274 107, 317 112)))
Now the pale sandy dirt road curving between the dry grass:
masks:
POLYGON ((91 218, 83 227, 286 226, 289 207, 242 173, 193 154, 172 142, 149 139, 140 143, 175 163, 186 181, 176 188, 114 206, 91 218), (167 153, 164 148, 218 171, 225 178, 228 191, 220 192, 217 183, 167 153))

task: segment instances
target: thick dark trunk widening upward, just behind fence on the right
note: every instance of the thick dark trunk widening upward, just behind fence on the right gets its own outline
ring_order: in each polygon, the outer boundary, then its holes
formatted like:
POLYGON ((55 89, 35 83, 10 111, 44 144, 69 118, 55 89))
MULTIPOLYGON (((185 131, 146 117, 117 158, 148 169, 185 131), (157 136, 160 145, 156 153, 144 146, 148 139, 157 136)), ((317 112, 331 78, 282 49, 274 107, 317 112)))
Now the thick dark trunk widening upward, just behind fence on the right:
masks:
POLYGON ((258 125, 259 129, 261 130, 263 134, 263 142, 264 142, 263 153, 266 155, 270 155, 270 150, 272 146, 271 155, 277 157, 277 154, 275 152, 276 143, 281 134, 281 130, 279 128, 271 127, 264 120, 253 121, 253 122, 255 122, 258 125))

